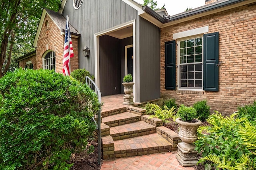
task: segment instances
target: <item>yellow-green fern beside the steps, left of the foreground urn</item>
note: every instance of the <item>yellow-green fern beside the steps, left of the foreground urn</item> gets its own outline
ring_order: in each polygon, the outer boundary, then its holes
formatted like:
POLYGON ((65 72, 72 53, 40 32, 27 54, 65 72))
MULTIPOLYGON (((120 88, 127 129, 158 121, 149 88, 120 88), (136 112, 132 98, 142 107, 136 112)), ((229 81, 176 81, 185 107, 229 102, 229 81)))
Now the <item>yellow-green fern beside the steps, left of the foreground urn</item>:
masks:
POLYGON ((148 108, 148 111, 146 109, 147 113, 154 113, 149 117, 149 119, 152 119, 153 117, 157 117, 158 119, 162 119, 164 123, 167 123, 168 119, 170 118, 176 119, 176 116, 175 116, 176 113, 174 112, 175 107, 168 109, 168 107, 164 105, 164 109, 162 109, 160 106, 156 104, 148 104, 146 108, 148 108))

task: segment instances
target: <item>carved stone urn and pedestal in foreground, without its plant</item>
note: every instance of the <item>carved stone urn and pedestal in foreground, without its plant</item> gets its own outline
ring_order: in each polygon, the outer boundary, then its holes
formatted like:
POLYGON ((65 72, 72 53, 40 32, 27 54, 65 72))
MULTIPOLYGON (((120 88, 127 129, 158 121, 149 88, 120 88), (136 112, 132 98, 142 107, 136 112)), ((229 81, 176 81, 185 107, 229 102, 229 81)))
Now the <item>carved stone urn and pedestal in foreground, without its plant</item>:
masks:
POLYGON ((178 143, 176 159, 182 166, 194 166, 198 162, 196 157, 198 151, 195 150, 196 146, 193 143, 198 139, 196 132, 202 122, 198 119, 193 120, 195 120, 194 123, 181 121, 180 118, 175 120, 180 128, 178 135, 182 140, 178 143))

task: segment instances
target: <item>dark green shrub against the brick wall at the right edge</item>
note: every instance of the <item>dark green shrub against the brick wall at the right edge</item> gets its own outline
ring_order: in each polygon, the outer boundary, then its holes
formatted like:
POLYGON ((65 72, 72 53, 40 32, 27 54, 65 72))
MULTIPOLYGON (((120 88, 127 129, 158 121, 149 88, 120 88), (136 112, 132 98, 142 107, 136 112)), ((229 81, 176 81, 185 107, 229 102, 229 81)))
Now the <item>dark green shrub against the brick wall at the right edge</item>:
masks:
POLYGON ((256 101, 251 105, 237 108, 239 114, 238 117, 247 117, 249 121, 256 123, 256 101))

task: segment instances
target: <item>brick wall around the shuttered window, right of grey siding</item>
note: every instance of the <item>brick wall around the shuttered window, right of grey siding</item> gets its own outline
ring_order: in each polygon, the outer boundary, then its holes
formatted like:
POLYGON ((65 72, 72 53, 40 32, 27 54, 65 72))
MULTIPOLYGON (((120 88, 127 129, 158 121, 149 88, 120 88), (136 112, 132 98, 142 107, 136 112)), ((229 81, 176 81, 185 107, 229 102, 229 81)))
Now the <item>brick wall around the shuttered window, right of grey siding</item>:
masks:
POLYGON ((211 111, 218 110, 224 115, 230 115, 238 106, 253 103, 256 100, 256 3, 162 28, 160 57, 161 96, 165 99, 175 98, 176 103, 188 106, 207 100, 211 111), (165 90, 164 43, 173 40, 173 33, 207 25, 208 33, 219 32, 219 61, 223 62, 219 66, 219 91, 165 90))

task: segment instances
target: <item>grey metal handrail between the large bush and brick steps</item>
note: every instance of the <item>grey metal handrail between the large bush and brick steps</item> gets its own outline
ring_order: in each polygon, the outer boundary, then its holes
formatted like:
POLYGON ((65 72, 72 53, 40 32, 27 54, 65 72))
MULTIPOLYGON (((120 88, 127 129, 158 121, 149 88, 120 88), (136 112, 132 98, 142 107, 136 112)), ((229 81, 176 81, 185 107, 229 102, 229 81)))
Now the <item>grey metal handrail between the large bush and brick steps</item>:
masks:
POLYGON ((88 76, 86 76, 86 84, 90 86, 90 88, 97 94, 98 101, 99 101, 99 110, 98 114, 94 113, 93 120, 96 123, 97 129, 98 129, 98 164, 100 164, 101 160, 101 131, 100 131, 100 123, 101 123, 101 115, 100 115, 100 109, 101 109, 101 92, 98 86, 95 84, 95 82, 88 76), (96 122, 96 120, 97 122, 96 122))

